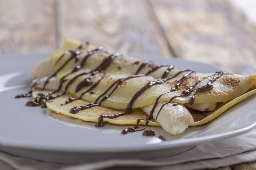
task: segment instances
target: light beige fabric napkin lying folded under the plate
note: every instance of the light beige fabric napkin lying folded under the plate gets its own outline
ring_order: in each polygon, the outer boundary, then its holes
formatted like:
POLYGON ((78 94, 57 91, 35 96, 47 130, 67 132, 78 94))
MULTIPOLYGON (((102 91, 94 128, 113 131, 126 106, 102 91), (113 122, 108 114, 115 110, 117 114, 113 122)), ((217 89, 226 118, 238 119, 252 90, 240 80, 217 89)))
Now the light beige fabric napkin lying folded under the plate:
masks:
POLYGON ((93 164, 62 165, 0 152, 0 170, 195 170, 256 161, 256 129, 240 136, 199 144, 176 156, 153 160, 109 160, 93 164))

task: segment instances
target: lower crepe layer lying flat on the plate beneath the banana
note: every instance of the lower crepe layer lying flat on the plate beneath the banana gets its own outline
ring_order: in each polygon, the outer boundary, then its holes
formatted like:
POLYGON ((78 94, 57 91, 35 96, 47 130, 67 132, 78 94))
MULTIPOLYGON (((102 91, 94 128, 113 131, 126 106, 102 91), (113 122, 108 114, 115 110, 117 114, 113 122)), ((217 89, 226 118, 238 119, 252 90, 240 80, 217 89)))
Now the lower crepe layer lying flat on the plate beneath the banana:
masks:
MULTIPOLYGON (((32 97, 35 98, 38 96, 39 93, 47 94, 50 91, 44 90, 35 90, 32 93, 32 97)), ((210 112, 200 112, 196 110, 190 110, 190 113, 194 119, 194 123, 189 126, 198 126, 198 125, 204 125, 208 122, 211 122, 212 120, 216 119, 218 116, 220 116, 222 113, 227 111, 232 106, 238 104, 239 102, 242 102, 243 100, 247 99, 248 97, 252 96, 253 94, 256 94, 256 89, 248 91, 247 93, 237 97, 236 99, 233 99, 226 103, 219 103, 218 107, 215 109, 215 111, 210 112)), ((117 110, 113 108, 106 108, 103 106, 96 106, 94 108, 89 108, 83 111, 80 111, 77 114, 69 113, 70 108, 77 106, 77 105, 86 105, 89 102, 86 102, 84 100, 76 100, 74 102, 68 103, 67 105, 61 106, 61 104, 65 103, 67 99, 72 96, 71 94, 65 94, 57 99, 53 99, 51 102, 47 102, 47 108, 55 113, 63 114, 65 116, 73 117, 75 119, 81 119, 86 122, 97 122, 98 118, 102 114, 116 114, 120 113, 123 110, 117 110)), ((120 116, 114 119, 104 119, 104 122, 109 122, 111 124, 115 125, 137 125, 137 119, 147 119, 148 115, 140 110, 140 109, 133 109, 132 113, 120 116)), ((144 120, 140 121, 140 125, 145 125, 144 120)), ((151 120, 148 122, 149 126, 161 126, 156 120, 151 120)))

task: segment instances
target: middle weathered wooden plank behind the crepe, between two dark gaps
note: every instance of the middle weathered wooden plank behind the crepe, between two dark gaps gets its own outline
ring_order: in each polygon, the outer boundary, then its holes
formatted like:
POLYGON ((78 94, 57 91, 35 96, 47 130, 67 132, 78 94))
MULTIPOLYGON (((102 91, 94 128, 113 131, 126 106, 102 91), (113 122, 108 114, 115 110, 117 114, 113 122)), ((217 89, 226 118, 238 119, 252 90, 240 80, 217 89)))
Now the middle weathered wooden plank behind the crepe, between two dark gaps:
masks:
POLYGON ((122 53, 171 56, 147 0, 59 0, 59 44, 87 40, 122 53))

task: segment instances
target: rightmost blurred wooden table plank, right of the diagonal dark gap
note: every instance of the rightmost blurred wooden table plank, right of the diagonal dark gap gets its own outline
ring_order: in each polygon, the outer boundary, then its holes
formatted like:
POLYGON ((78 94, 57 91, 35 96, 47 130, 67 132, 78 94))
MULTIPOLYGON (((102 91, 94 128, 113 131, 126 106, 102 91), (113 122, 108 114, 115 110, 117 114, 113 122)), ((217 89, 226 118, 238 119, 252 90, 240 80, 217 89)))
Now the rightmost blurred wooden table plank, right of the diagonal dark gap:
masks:
POLYGON ((256 68, 255 26, 227 0, 151 0, 177 56, 229 71, 256 68))

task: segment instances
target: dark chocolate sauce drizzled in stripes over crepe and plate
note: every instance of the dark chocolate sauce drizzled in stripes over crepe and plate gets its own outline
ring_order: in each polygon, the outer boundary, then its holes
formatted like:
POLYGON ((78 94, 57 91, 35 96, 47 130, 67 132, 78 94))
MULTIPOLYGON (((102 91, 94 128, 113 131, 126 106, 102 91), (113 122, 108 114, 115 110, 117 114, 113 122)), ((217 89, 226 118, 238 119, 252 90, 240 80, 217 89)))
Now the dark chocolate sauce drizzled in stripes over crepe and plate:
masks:
MULTIPOLYGON (((83 75, 86 75, 86 74, 90 74, 89 77, 85 78, 83 81, 79 82, 79 84, 76 86, 76 92, 80 91, 82 88, 84 87, 88 87, 90 86, 89 89, 87 89, 86 91, 84 91, 80 96, 79 98, 77 99, 81 99, 81 97, 86 94, 86 93, 89 93, 90 94, 94 94, 94 91, 93 89, 97 87, 97 85, 99 85, 99 82, 101 82, 101 80, 103 78, 105 78, 105 76, 103 76, 101 79, 99 79, 97 82, 92 82, 91 79, 98 73, 100 73, 101 71, 104 71, 105 69, 108 68, 109 65, 111 65, 111 63, 113 62, 113 59, 115 59, 116 57, 120 56, 121 54, 111 54, 109 57, 105 58, 102 63, 96 68, 96 69, 93 69, 92 71, 88 71, 88 72, 83 72, 81 74, 78 74, 76 75, 75 77, 73 77, 72 79, 69 80, 69 82, 67 83, 67 85, 65 86, 64 88, 64 92, 61 93, 61 94, 57 94, 57 95, 52 95, 54 93, 57 93, 59 91, 61 91, 61 88, 63 86, 63 83, 66 82, 67 80, 65 79, 67 76, 69 76, 70 74, 73 74, 74 72, 76 71, 79 71, 79 69, 81 69, 84 64, 87 62, 87 59, 92 56, 93 54, 97 54, 97 53, 105 53, 107 52, 107 49, 106 48, 103 48, 103 47, 98 47, 96 48, 95 50, 83 50, 81 51, 81 48, 84 47, 84 45, 89 45, 89 42, 83 42, 78 48, 76 48, 75 50, 70 50, 70 51, 66 51, 64 54, 62 54, 59 59, 57 60, 56 63, 58 63, 63 57, 64 55, 66 54, 70 54, 70 57, 64 62, 63 65, 61 65, 52 75, 50 75, 47 80, 44 82, 44 85, 43 85, 43 88, 41 90, 44 90, 46 85, 49 83, 49 79, 51 79, 52 77, 55 77, 59 71, 61 71, 72 59, 75 59, 75 63, 77 63, 79 61, 79 56, 80 54, 84 54, 84 53, 88 53, 84 58, 83 60, 81 61, 81 63, 79 65, 76 65, 73 70, 66 74, 64 77, 62 77, 60 79, 60 85, 58 87, 58 90, 56 91, 52 91, 52 92, 49 92, 48 94, 41 94, 34 99, 32 101, 29 101, 26 103, 26 105, 28 106, 39 106, 41 105, 41 101, 42 100, 46 100, 46 102, 48 102, 49 100, 52 100, 52 99, 55 99, 59 96, 62 96, 64 94, 66 94, 69 86, 78 78, 78 77, 81 77, 83 75)), ((55 64, 56 64, 55 63, 55 64)), ((134 63, 135 64, 135 63, 134 63)), ((125 114, 128 114, 128 113, 131 113, 132 112, 132 106, 134 104, 134 102, 138 99, 138 97, 143 94, 147 89, 153 87, 154 85, 160 85, 160 84, 163 84, 165 83, 166 81, 170 80, 170 79, 173 79, 175 77, 177 77, 178 75, 186 72, 186 74, 183 75, 183 77, 178 80, 178 82, 176 83, 175 87, 172 88, 170 91, 167 91, 165 92, 164 94, 161 94, 160 96, 157 97, 154 105, 153 105, 153 108, 151 109, 150 113, 149 113, 149 116, 148 116, 148 119, 138 119, 137 120, 137 125, 134 126, 134 127, 128 127, 128 128, 125 128, 124 130, 122 130, 122 134, 127 134, 128 132, 136 132, 136 131, 140 131, 140 130, 145 130, 145 129, 139 129, 139 122, 140 120, 145 120, 145 125, 148 125, 148 122, 150 119, 153 119, 153 113, 154 113, 154 110, 155 108, 157 107, 158 105, 158 102, 159 102, 159 99, 165 95, 165 94, 168 94, 168 93, 171 93, 173 91, 176 91, 177 88, 180 87, 180 85, 183 83, 183 81, 185 79, 187 79, 189 77, 189 75, 191 75, 192 73, 195 73, 195 71, 191 71, 189 69, 184 69, 184 70, 181 70, 179 71, 177 74, 175 74, 174 76, 171 76, 171 77, 168 77, 169 75, 169 72, 172 71, 172 69, 174 68, 173 65, 167 65, 167 64, 162 64, 162 65, 155 65, 153 62, 151 61, 145 61, 143 62, 140 67, 137 69, 137 71, 135 72, 134 75, 132 76, 129 76, 129 77, 125 77, 125 78, 122 78, 122 79, 118 79, 116 80, 105 92, 103 92, 103 94, 101 94, 96 100, 95 102, 92 102, 90 104, 87 104, 87 105, 83 105, 83 106, 76 106, 74 108, 71 108, 70 109, 70 113, 73 113, 73 114, 76 114, 78 113, 79 111, 81 110, 84 110, 84 109, 88 109, 88 108, 92 108, 94 106, 99 106, 101 105, 101 103, 103 101, 105 101, 106 99, 108 99, 109 96, 111 96, 111 94, 113 94, 113 92, 116 90, 116 88, 118 88, 118 86, 124 82, 125 80, 128 80, 128 79, 131 79, 131 78, 136 78, 136 77, 143 77, 143 76, 146 76, 146 75, 149 75, 151 73, 153 73, 154 71, 157 71, 159 68, 162 68, 162 67, 168 67, 166 69, 166 71, 162 74, 162 76, 159 78, 159 79, 155 79, 154 81, 152 82, 148 82, 145 86, 143 86, 143 88, 141 88, 139 91, 137 91, 134 96, 132 96, 130 102, 128 103, 126 109, 124 112, 122 113, 117 113, 117 114, 114 114, 114 115, 101 115, 99 116, 98 118, 98 122, 96 123, 96 127, 103 127, 104 124, 103 124, 103 119, 104 118, 108 118, 108 119, 113 119, 113 118, 116 118, 116 117, 119 117, 119 116, 123 116, 125 114), (145 68, 146 66, 148 67, 151 67, 151 69, 146 73, 146 74, 139 74, 140 71, 145 68), (112 89, 112 90, 111 90, 112 89)), ((221 75, 223 74, 226 74, 224 72, 216 72, 215 74, 212 74, 210 76, 214 76, 216 75, 215 77, 213 77, 211 80, 209 80, 209 82, 207 82, 206 85, 202 86, 201 88, 198 88, 194 94, 192 95, 192 97, 189 99, 189 103, 190 104, 193 104, 195 102, 195 95, 197 93, 201 93, 201 92, 204 92, 204 91, 208 91, 208 90, 212 90, 213 88, 213 85, 212 83, 216 81, 216 79, 218 79, 219 77, 221 77, 221 75)), ((208 76, 208 77, 210 77, 208 76)), ((177 97, 184 97, 184 96, 189 96, 190 94, 192 94, 192 92, 194 91, 196 85, 198 85, 199 82, 201 82, 202 80, 206 79, 207 77, 204 77, 200 80, 198 80, 198 82, 196 82, 193 86, 187 88, 186 90, 182 91, 182 93, 180 95, 177 95, 177 96, 173 96, 169 102, 166 102, 164 103, 160 110, 158 111, 157 113, 157 116, 159 115, 160 111, 163 109, 163 107, 169 103, 172 102, 173 99, 177 98, 177 97)), ((34 85, 32 85, 33 87, 34 85)), ((29 91, 28 93, 26 94, 20 94, 20 95, 17 95, 15 96, 15 98, 20 98, 20 97, 29 97, 31 96, 32 94, 32 90, 29 91)), ((75 100, 77 100, 76 98, 74 97, 70 97, 66 102, 65 104, 68 104, 70 102, 73 102, 75 100)), ((62 104, 62 105, 65 105, 65 104, 62 104)), ((173 104, 172 106, 176 106, 178 104, 173 104)), ((42 108, 46 107, 46 104, 43 104, 41 105, 42 108)), ((157 119, 157 116, 156 116, 156 119, 157 119)), ((155 136, 155 133, 154 133, 154 130, 145 130, 143 132, 143 135, 144 136, 155 136)), ((163 138, 163 136, 158 136, 159 139, 161 140, 164 140, 165 139, 163 138)))

